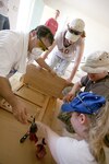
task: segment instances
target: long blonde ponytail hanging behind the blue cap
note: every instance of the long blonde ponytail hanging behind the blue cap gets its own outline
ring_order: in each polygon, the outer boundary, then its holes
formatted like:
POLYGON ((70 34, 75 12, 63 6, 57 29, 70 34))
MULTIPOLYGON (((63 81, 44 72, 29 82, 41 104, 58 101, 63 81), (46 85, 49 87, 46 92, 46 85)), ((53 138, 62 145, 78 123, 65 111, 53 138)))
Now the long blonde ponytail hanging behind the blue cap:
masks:
POLYGON ((109 148, 109 102, 92 118, 89 148, 99 164, 106 164, 105 147, 109 148))

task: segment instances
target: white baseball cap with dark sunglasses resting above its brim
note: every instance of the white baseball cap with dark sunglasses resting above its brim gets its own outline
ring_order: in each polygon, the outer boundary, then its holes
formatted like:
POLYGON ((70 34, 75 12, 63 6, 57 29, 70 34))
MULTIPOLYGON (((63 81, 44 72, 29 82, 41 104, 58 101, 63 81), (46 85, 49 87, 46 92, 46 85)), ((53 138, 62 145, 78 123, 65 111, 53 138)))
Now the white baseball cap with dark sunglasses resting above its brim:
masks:
POLYGON ((84 31, 85 23, 81 19, 73 20, 68 27, 65 38, 71 42, 76 42, 80 38, 80 34, 84 31), (74 30, 74 32, 73 32, 74 30), (78 33, 78 34, 77 34, 78 33))

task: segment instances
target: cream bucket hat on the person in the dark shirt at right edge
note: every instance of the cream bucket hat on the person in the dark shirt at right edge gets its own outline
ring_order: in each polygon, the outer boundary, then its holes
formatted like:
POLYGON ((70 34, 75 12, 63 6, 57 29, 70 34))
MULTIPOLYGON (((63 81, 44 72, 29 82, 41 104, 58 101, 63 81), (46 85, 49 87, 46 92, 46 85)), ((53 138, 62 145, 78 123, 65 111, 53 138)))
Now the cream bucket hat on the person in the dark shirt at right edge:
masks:
POLYGON ((109 52, 96 51, 90 54, 81 69, 87 73, 109 71, 109 52))

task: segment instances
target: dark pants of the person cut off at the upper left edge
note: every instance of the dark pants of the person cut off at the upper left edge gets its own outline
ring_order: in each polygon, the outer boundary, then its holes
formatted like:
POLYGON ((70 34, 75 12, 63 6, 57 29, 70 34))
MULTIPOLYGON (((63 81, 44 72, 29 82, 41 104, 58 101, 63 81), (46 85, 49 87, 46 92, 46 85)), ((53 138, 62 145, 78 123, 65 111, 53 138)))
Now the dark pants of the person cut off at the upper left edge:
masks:
POLYGON ((10 30, 10 21, 9 17, 0 14, 0 31, 10 30))

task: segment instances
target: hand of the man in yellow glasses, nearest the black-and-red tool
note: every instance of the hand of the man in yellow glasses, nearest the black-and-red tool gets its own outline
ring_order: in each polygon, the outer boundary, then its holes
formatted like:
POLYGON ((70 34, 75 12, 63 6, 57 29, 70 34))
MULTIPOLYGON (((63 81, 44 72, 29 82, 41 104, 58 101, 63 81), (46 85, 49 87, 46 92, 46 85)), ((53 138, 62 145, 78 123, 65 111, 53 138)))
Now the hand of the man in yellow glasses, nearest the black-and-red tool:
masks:
POLYGON ((14 117, 22 124, 27 124, 27 112, 24 103, 17 101, 17 103, 12 106, 12 112, 14 117))

